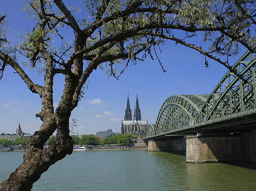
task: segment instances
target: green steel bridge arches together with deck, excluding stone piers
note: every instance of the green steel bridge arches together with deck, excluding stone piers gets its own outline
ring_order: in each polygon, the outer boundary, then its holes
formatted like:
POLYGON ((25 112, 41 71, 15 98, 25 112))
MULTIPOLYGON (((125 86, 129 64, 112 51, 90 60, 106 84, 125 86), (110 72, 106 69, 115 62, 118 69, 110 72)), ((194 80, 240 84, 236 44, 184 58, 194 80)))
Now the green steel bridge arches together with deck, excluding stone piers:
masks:
POLYGON ((246 52, 209 95, 172 95, 164 101, 144 141, 197 133, 256 130, 256 54, 246 52))

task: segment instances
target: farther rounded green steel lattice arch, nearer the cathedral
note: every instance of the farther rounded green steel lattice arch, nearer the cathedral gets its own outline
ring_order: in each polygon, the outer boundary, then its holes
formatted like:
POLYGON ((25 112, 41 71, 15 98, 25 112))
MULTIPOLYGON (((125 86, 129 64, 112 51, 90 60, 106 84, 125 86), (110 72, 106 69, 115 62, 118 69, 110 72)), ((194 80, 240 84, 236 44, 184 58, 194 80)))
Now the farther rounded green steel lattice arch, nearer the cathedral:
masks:
POLYGON ((156 119, 155 134, 165 133, 203 121, 201 112, 209 95, 174 95, 164 101, 156 119))

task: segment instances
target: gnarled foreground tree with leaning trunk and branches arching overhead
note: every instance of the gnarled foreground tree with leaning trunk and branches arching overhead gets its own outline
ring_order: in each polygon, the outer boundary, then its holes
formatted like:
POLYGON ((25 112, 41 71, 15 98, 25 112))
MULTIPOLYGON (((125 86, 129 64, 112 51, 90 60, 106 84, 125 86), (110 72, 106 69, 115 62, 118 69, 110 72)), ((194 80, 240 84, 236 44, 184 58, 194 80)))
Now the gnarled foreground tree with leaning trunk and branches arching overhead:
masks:
POLYGON ((229 70, 229 56, 238 54, 242 46, 255 53, 252 0, 85 0, 84 7, 89 19, 77 18, 77 10, 61 0, 29 1, 25 10, 35 19, 35 26, 24 32, 17 44, 7 36, 8 15, 0 16, 0 77, 6 67, 13 67, 29 90, 41 97, 42 111, 36 117, 43 121, 27 141, 23 164, 0 184, 1 190, 30 190, 49 166, 72 153, 69 117, 84 96, 93 70, 105 67, 109 75, 118 78, 127 66, 146 56, 156 57, 162 66, 156 47, 167 40, 200 52, 206 66, 210 58, 229 70), (72 43, 65 40, 68 28, 74 33, 72 43), (203 36, 204 46, 190 43, 196 35, 203 36), (26 57, 26 65, 44 75, 44 86, 28 77, 18 57, 26 57), (54 110, 52 87, 56 75, 65 76, 65 86, 54 110), (55 141, 43 150, 55 130, 55 141))

